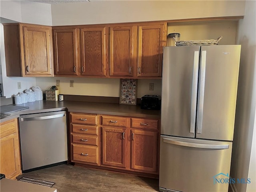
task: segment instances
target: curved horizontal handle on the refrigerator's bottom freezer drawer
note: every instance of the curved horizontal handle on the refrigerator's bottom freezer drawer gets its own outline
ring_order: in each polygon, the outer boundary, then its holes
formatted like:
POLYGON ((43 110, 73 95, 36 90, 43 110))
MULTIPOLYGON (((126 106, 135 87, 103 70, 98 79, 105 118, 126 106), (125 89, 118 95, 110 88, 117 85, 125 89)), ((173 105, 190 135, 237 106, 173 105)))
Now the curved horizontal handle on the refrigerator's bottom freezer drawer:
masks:
POLYGON ((180 145, 180 146, 186 146, 186 147, 194 147, 194 148, 204 148, 204 149, 228 149, 229 148, 229 145, 189 143, 189 142, 176 141, 176 140, 166 139, 166 138, 164 138, 163 141, 165 143, 170 143, 170 144, 180 145))

